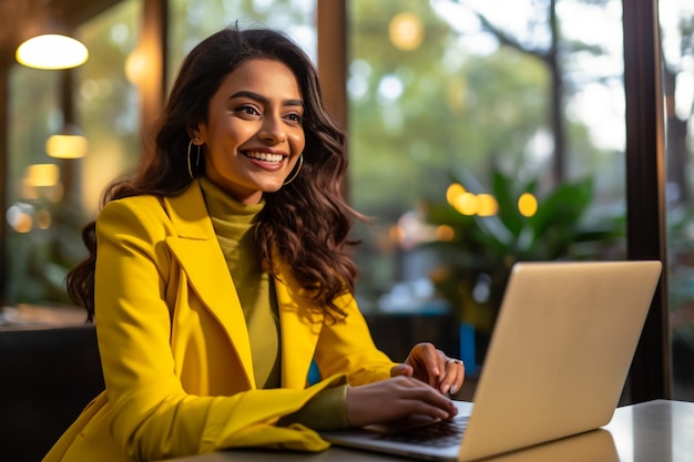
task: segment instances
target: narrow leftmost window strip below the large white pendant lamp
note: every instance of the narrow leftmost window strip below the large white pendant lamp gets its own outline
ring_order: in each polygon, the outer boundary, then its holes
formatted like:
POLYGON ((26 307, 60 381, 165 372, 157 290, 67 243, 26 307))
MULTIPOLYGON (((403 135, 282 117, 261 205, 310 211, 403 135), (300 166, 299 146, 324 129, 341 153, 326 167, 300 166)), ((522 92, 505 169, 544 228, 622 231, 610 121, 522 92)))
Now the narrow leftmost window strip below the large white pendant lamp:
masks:
MULTIPOLYGON (((59 129, 57 72, 19 64, 10 71, 8 107, 8 287, 9 304, 35 302, 55 294, 60 278, 51 279, 48 261, 58 238, 52 226, 62 187, 58 162, 45 154, 45 140, 59 129), (31 110, 28 110, 31 109, 31 110), (44 220, 40 222, 43 216, 44 220)), ((4 173, 4 172, 3 172, 4 173)), ((60 273, 60 268, 55 268, 60 273)))

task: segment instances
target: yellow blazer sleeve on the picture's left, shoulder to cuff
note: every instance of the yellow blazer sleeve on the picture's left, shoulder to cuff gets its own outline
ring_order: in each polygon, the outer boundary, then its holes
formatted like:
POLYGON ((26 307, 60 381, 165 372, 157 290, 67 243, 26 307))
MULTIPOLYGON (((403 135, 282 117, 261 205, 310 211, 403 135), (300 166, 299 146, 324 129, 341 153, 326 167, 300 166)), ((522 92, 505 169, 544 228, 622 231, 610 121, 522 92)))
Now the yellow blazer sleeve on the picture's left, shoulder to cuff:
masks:
POLYGON ((134 460, 231 446, 326 449, 328 443, 313 430, 276 423, 322 390, 345 384, 344 376, 305 390, 217 397, 184 391, 170 345, 166 290, 175 271, 164 244, 174 233, 167 227, 153 197, 112 202, 96 223, 95 322, 111 407, 106 418, 116 444, 134 460))

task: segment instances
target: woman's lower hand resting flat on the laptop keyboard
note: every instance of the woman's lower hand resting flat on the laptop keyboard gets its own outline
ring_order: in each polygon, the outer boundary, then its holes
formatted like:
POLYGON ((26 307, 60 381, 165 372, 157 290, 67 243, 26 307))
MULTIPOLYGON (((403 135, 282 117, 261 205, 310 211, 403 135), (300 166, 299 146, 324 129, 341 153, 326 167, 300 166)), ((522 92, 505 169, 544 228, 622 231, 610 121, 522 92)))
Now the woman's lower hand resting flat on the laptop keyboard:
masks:
POLYGON ((423 414, 432 419, 452 419, 458 409, 452 401, 429 384, 412 377, 399 376, 347 389, 347 423, 364 427, 423 414))

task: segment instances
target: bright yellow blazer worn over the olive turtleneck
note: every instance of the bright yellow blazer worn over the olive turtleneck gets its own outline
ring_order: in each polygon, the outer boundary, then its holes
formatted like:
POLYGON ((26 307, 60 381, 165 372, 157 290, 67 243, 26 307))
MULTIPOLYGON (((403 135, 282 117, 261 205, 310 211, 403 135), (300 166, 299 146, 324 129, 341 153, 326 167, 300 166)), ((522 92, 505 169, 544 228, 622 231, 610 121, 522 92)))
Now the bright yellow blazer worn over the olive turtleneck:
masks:
POLYGON ((319 451, 300 424, 276 427, 318 391, 390 377, 354 297, 330 322, 289 268, 275 279, 282 388, 258 390, 244 315, 198 182, 176 197, 106 205, 96 220, 95 324, 106 390, 44 458, 146 461, 232 446, 319 451), (315 360, 322 377, 307 388, 315 360))

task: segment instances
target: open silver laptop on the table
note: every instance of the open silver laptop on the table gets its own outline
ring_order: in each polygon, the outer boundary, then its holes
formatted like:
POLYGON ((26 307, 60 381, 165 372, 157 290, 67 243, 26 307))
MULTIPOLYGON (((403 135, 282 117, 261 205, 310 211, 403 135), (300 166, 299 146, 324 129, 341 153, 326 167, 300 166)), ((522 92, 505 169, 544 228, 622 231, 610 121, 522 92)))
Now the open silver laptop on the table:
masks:
POLYGON ((414 415, 407 424, 415 429, 322 435, 336 445, 463 462, 599 429, 619 404, 661 268, 660 261, 517 263, 473 402, 456 401, 453 422, 420 425, 427 419, 414 415), (465 433, 445 445, 425 440, 430 428, 451 423, 465 433))

